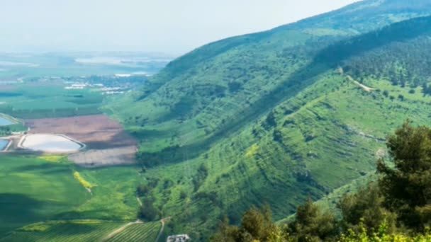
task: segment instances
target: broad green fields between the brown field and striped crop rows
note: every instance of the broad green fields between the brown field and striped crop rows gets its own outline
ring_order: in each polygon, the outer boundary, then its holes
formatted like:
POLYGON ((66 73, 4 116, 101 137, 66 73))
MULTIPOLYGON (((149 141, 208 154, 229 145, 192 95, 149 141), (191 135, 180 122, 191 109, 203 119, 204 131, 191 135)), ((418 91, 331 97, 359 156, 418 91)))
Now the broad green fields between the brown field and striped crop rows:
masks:
POLYGON ((125 224, 137 217, 133 166, 86 170, 62 156, 1 155, 0 236, 37 222, 103 219, 125 224), (91 183, 91 194, 74 172, 91 183))

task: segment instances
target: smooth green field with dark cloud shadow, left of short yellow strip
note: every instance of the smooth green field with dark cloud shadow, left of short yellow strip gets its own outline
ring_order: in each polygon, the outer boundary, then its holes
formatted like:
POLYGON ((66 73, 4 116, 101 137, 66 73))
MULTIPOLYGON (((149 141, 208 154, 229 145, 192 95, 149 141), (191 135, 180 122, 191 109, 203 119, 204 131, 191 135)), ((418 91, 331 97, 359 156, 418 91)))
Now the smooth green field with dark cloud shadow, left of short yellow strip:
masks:
POLYGON ((91 195, 62 159, 2 154, 0 234, 26 224, 61 217, 91 195))

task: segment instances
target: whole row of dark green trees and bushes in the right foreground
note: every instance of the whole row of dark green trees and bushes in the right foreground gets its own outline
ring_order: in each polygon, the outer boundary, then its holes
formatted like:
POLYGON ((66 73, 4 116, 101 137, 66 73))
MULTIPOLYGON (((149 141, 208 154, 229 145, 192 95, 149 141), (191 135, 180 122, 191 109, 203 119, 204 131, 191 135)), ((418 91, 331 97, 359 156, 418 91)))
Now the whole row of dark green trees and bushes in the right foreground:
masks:
POLYGON ((253 207, 240 226, 225 219, 212 241, 431 241, 431 129, 405 122, 387 147, 391 161, 379 160, 379 180, 345 195, 340 219, 307 200, 293 221, 277 226, 269 207, 253 207))

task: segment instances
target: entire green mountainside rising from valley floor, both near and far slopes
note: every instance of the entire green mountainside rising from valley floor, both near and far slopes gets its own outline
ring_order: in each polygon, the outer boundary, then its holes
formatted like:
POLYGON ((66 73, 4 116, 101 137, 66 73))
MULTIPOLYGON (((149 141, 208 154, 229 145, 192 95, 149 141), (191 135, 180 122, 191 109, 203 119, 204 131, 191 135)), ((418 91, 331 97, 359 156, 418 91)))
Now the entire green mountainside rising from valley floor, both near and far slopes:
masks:
POLYGON ((403 120, 429 120, 431 18, 379 29, 429 13, 427 1, 364 1, 215 42, 106 110, 140 137, 147 196, 174 230, 198 238, 264 202, 286 217, 374 170, 403 120))

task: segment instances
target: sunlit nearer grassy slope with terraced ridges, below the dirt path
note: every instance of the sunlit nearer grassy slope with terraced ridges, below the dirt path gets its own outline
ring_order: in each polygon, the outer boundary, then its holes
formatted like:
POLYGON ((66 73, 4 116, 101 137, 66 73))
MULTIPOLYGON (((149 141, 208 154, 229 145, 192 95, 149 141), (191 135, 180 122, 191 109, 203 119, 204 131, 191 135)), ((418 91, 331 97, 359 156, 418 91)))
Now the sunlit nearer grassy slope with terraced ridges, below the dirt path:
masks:
MULTIPOLYGON (((353 83, 343 83, 340 77, 328 77, 321 80, 320 88, 334 91, 301 102, 306 105, 291 115, 283 115, 291 104, 284 103, 277 109, 276 127, 264 130, 259 123, 250 125, 196 159, 148 171, 148 178, 177 182, 168 194, 162 185, 155 191, 164 213, 183 217, 192 230, 196 225, 211 227, 208 218, 217 217, 218 212, 239 219, 250 204, 269 202, 276 219, 280 219, 293 212, 308 195, 321 197, 374 171, 378 151, 385 147, 386 134, 406 118, 427 123, 429 97, 420 93, 408 95, 405 88, 376 81, 375 87, 408 96, 403 101, 391 101, 378 93, 366 93, 353 83), (331 82, 336 86, 329 86, 331 82), (254 129, 260 129, 258 137, 254 136, 254 129), (274 141, 276 132, 281 133, 283 142, 274 141), (257 151, 247 156, 254 145, 257 151), (206 164, 209 174, 198 192, 206 196, 196 197, 192 180, 201 163, 206 164), (181 200, 181 191, 187 191, 189 197, 181 200), (215 200, 211 197, 213 192, 215 200), (202 225, 202 221, 208 224, 202 225)), ((311 96, 318 88, 316 83, 303 96, 311 96)))

